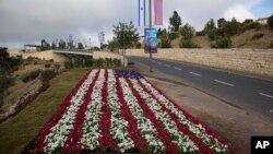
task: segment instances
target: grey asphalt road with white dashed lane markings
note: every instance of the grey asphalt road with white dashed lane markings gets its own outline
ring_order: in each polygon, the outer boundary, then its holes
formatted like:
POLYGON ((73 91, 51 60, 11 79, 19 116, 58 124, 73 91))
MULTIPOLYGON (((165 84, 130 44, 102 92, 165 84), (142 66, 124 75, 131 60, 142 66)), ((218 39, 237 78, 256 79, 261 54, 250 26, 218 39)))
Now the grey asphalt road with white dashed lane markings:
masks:
MULTIPOLYGON (((129 61, 135 67, 150 64, 149 58, 129 57, 129 61)), ((185 62, 153 59, 152 63, 154 71, 273 121, 273 82, 185 62)))

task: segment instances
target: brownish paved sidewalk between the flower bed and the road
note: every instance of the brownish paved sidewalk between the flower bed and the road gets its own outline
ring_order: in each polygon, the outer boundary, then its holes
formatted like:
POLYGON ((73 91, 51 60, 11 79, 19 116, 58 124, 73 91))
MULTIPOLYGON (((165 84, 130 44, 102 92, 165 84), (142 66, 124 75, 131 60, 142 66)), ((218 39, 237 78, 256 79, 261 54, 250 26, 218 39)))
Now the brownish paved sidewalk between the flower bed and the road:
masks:
POLYGON ((259 115, 177 82, 176 79, 157 70, 151 73, 145 66, 133 64, 131 69, 143 74, 179 106, 214 129, 235 146, 238 154, 250 153, 251 135, 273 134, 273 122, 262 119, 259 115))

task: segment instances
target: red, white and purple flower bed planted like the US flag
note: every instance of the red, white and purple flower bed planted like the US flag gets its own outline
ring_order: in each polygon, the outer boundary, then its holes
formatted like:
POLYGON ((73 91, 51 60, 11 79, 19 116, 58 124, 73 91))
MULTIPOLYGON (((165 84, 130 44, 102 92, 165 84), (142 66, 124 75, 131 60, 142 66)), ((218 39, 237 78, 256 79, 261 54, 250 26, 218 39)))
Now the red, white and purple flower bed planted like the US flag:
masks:
POLYGON ((92 70, 35 141, 35 153, 233 153, 214 131, 128 70, 92 70))

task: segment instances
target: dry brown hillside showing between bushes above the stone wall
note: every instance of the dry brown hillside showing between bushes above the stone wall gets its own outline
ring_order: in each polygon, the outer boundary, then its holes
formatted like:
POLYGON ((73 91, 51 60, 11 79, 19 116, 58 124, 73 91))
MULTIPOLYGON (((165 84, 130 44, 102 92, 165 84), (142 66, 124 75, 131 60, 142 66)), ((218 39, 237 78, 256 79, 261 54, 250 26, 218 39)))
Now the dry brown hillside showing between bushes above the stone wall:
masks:
MULTIPOLYGON (((201 48, 211 48, 211 40, 207 36, 195 36, 192 40, 201 46, 201 48)), ((273 42, 273 31, 266 26, 260 29, 249 29, 232 36, 232 40, 235 48, 266 49, 273 42)), ((179 47, 179 38, 171 42, 171 47, 179 47)))

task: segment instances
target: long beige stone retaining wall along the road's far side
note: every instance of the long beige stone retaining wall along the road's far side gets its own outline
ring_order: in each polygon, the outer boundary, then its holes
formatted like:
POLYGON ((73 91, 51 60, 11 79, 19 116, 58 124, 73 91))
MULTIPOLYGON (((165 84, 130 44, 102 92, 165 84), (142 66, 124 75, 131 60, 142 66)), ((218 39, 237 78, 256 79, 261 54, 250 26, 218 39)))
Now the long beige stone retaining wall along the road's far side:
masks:
MULTIPOLYGON (((149 57, 143 49, 128 56, 149 57)), ((186 61, 219 69, 273 76, 273 50, 263 49, 158 49, 154 58, 186 61)))

